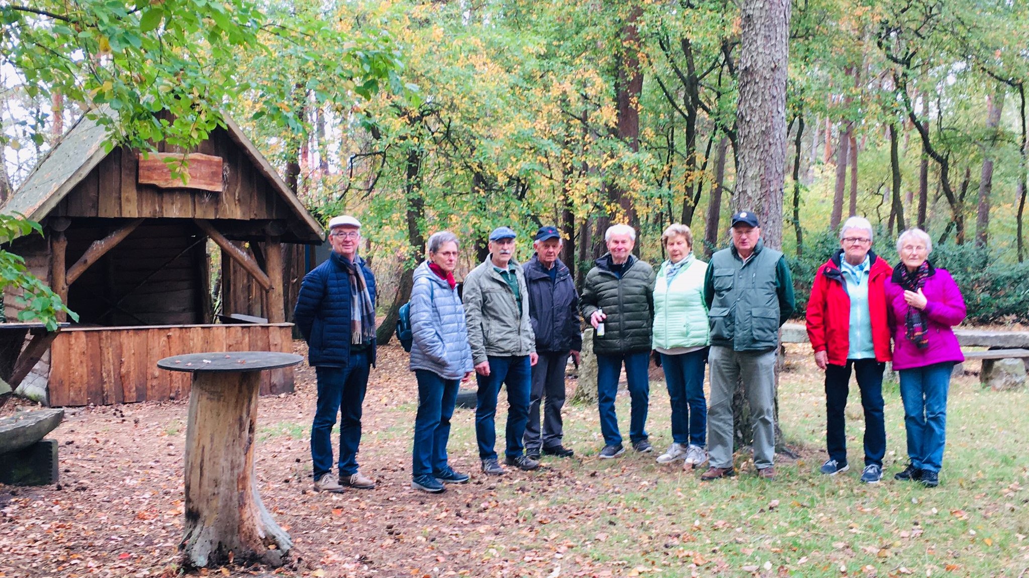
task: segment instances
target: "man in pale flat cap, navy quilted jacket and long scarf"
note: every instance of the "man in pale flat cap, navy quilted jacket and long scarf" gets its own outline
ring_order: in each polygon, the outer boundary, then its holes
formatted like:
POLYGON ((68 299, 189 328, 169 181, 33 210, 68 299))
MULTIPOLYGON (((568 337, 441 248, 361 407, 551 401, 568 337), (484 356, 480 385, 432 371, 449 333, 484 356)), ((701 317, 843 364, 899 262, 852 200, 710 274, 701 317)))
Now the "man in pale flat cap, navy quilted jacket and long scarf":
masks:
POLYGON ((376 361, 376 278, 357 255, 361 223, 349 215, 328 222, 329 258, 304 277, 293 321, 308 341, 318 375, 318 405, 311 427, 315 490, 370 490, 375 480, 357 469, 361 405, 376 361), (340 418, 340 478, 332 478, 332 427, 340 418))

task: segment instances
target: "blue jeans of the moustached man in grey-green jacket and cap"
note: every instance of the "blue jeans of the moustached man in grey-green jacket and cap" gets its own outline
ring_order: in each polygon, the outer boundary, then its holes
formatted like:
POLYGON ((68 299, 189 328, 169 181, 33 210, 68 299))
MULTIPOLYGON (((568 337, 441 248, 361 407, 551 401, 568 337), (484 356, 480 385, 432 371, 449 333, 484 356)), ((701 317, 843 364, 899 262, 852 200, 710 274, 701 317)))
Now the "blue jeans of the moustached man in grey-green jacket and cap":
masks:
POLYGON ((507 448, 504 455, 517 458, 522 455, 522 436, 529 421, 529 392, 532 389, 532 365, 529 356, 487 356, 490 374, 475 374, 478 383, 475 404, 475 439, 478 440, 478 458, 496 460, 493 447, 497 442, 497 395, 500 386, 507 386, 507 448))

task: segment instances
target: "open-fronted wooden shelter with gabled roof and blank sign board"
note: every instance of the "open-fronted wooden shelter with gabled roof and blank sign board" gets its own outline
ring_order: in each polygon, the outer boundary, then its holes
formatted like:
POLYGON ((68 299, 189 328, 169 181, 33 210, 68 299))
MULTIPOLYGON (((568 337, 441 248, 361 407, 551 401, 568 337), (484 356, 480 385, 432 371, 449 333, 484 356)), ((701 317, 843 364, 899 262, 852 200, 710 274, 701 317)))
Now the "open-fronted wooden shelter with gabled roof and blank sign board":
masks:
MULTIPOLYGON (((188 375, 158 370, 161 358, 292 350, 287 316, 323 229, 225 125, 196 150, 147 154, 107 151, 104 127, 83 117, 6 203, 45 232, 11 250, 79 315, 23 388, 45 385, 50 405, 176 399, 188 375)), ((4 305, 14 320, 14 295, 4 305)), ((293 389, 292 368, 262 380, 261 393, 293 389)))

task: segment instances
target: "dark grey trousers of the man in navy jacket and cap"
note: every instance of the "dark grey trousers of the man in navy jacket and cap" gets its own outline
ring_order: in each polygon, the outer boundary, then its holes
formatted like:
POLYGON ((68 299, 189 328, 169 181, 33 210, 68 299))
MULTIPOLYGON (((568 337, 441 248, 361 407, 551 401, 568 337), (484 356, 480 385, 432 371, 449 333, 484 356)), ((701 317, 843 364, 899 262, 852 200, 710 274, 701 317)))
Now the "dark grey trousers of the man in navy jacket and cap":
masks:
POLYGON ((539 354, 532 366, 532 390, 529 393, 529 423, 523 441, 527 454, 538 454, 543 447, 561 445, 564 436, 561 408, 565 405, 565 367, 568 352, 539 354), (543 399, 546 403, 542 404, 543 399), (543 405, 543 435, 540 440, 539 406, 543 405))

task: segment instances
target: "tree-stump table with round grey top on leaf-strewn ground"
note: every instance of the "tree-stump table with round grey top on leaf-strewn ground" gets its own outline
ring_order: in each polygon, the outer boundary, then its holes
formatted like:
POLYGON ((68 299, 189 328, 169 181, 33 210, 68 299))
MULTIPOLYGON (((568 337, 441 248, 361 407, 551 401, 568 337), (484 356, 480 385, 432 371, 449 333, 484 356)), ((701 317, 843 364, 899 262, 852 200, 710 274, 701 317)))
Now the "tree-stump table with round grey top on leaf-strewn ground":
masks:
POLYGON ((192 568, 228 562, 282 566, 293 543, 264 509, 254 484, 260 371, 304 358, 278 352, 196 353, 157 367, 193 374, 186 425, 185 532, 192 568))

